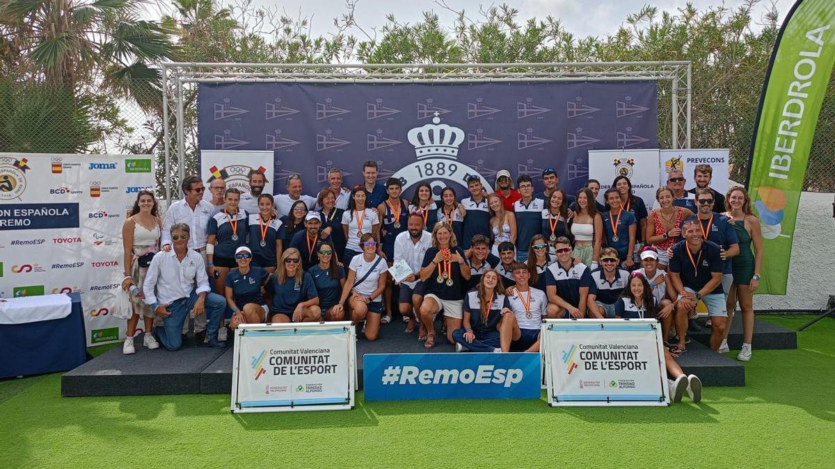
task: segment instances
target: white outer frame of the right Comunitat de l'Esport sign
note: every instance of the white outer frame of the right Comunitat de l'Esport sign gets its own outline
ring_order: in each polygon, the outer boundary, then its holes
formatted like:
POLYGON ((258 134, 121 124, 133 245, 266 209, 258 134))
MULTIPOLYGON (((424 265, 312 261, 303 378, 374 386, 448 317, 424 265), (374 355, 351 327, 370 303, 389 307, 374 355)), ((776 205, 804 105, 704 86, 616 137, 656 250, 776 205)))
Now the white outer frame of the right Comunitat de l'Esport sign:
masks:
MULTIPOLYGON (((568 407, 588 407, 588 406, 669 406, 670 405, 670 391, 667 386, 667 369, 665 366, 665 358, 664 358, 664 344, 661 340, 661 328, 660 322, 655 319, 643 319, 643 320, 622 320, 622 319, 601 319, 601 320, 544 320, 542 324, 542 331, 540 333, 542 337, 541 343, 541 350, 540 353, 542 354, 542 363, 545 370, 545 381, 546 381, 546 396, 545 399, 548 401, 549 406, 557 407, 557 406, 568 406, 568 407), (551 356, 551 350, 558 350, 557 347, 559 345, 556 344, 556 335, 559 334, 567 334, 569 333, 568 330, 554 330, 555 326, 559 325, 571 325, 573 328, 576 328, 576 332, 583 333, 583 332, 596 332, 600 333, 600 331, 605 330, 607 326, 618 326, 618 329, 623 329, 623 327, 635 327, 635 329, 641 328, 641 326, 645 325, 657 325, 656 327, 652 328, 655 332, 655 345, 656 345, 656 353, 658 357, 657 365, 659 366, 659 384, 660 384, 660 398, 656 400, 626 400, 621 399, 619 396, 607 396, 605 400, 582 400, 582 401, 567 401, 562 400, 560 401, 556 395, 556 386, 558 384, 562 384, 559 381, 559 377, 562 376, 561 373, 556 373, 555 371, 561 366, 561 361, 554 360, 551 356), (613 398, 614 397, 614 398, 613 398)), ((556 352, 556 353, 559 353, 556 352)), ((650 361, 650 363, 654 363, 650 361)), ((600 392, 600 391, 598 391, 600 392)), ((591 393, 590 393, 591 394, 591 393)))

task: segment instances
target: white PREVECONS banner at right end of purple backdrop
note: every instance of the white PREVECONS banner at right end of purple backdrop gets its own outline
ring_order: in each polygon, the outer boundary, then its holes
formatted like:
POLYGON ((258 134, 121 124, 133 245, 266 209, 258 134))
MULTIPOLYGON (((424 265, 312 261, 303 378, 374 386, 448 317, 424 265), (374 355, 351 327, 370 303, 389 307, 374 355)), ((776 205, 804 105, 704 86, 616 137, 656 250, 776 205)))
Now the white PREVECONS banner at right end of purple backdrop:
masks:
MULTIPOLYGON (((728 189, 728 163, 731 159, 730 149, 681 149, 661 150, 660 152, 660 174, 661 184, 667 184, 667 173, 672 169, 679 169, 684 172, 686 183, 684 189, 690 190, 696 187, 696 177, 693 171, 699 164, 710 164, 713 169, 711 188, 724 195, 728 189)), ((655 194, 653 194, 655 199, 655 194)))

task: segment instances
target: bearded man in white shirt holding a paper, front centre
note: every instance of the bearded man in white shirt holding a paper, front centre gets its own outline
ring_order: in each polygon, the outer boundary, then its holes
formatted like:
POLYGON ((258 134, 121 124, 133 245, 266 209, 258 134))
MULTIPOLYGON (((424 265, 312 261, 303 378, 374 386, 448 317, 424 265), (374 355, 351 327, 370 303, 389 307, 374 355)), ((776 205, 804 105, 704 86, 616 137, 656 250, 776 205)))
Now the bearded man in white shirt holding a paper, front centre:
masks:
POLYGON ((400 282, 398 295, 400 314, 407 319, 407 332, 415 329, 414 311, 420 311, 420 305, 423 303, 423 282, 414 272, 420 272, 423 256, 431 247, 432 234, 423 229, 423 216, 417 213, 410 214, 407 231, 403 231, 394 239, 394 262, 405 260, 413 272, 400 282))

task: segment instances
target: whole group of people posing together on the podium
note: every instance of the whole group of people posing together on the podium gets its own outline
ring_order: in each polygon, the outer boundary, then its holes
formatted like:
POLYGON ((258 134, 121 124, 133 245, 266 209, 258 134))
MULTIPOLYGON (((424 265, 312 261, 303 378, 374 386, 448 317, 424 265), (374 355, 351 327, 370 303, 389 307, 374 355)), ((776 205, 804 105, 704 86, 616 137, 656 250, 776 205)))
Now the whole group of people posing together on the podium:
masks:
POLYGON ((211 179, 205 199, 203 181, 189 176, 185 197, 164 217, 153 194, 140 192, 124 225, 123 287, 144 292, 124 352, 134 352, 139 315, 144 345, 176 350, 189 312, 198 343, 220 347, 226 320, 234 329, 350 319, 376 340, 396 310, 427 348, 443 315, 440 334, 458 350, 479 351, 539 350, 544 317, 655 317, 675 357, 687 330, 701 327, 693 320, 701 300, 720 352, 738 302, 738 358, 748 360, 762 235, 746 190, 723 196, 710 188, 711 174, 697 166, 687 192, 684 174, 671 171, 649 211, 625 176, 602 204, 599 181, 567 194, 553 168, 544 169, 539 194, 529 175, 514 184, 502 170, 492 193, 472 176, 466 197, 447 187, 439 200, 427 183, 411 199, 399 179, 377 183, 373 161, 353 189, 331 169, 315 198, 302 194, 297 175, 286 194, 264 194, 266 175, 253 171, 250 192, 211 179), (399 261, 413 273, 396 282, 388 270, 399 261))

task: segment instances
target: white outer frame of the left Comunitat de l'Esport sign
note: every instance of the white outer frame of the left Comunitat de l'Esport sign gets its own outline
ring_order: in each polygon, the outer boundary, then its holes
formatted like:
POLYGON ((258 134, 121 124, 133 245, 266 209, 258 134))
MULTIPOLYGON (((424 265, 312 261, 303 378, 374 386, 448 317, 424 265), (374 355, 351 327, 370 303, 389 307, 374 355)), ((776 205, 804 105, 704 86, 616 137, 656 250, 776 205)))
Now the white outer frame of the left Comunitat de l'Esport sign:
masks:
MULTIPOLYGON (((253 335, 250 335, 252 337, 253 335)), ((276 335, 278 337, 279 335, 276 335)), ((281 346, 281 345, 279 345, 281 346)), ((312 343, 311 346, 316 346, 312 343)), ((232 392, 230 411, 237 413, 261 412, 290 412, 290 411, 349 411, 354 408, 354 395, 357 391, 357 330, 351 321, 309 322, 309 323, 281 323, 281 324, 245 324, 235 330, 235 348, 232 359, 232 392), (247 366, 241 366, 241 360, 247 357, 241 355, 243 341, 247 333, 267 332, 275 333, 291 331, 291 335, 298 336, 312 330, 338 330, 334 334, 347 335, 347 398, 344 402, 313 402, 320 400, 302 401, 270 401, 273 405, 242 406, 239 402, 240 372, 246 372, 247 366), (308 402, 305 402, 308 401, 308 402)))

